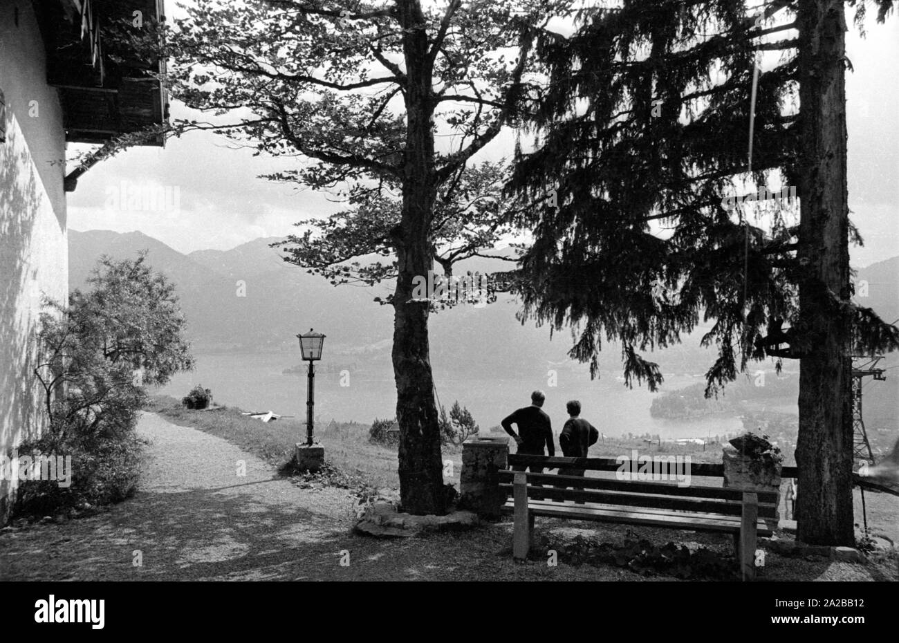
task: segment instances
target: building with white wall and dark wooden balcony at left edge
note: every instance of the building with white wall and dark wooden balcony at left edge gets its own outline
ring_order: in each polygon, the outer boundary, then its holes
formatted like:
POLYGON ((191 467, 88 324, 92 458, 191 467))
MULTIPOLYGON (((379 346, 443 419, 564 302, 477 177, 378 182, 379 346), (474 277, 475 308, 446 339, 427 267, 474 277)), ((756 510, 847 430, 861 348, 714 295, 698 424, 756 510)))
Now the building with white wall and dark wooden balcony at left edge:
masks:
MULTIPOLYGON (((113 64, 105 25, 162 19, 161 0, 0 0, 0 455, 46 430, 34 371, 45 298, 68 293, 67 143, 103 143, 165 122, 165 92, 143 67, 113 64), (145 13, 146 12, 146 13, 145 13)), ((111 46, 111 49, 114 47, 111 46)), ((120 60, 120 58, 117 58, 120 60)), ((160 145, 162 138, 148 138, 160 145)), ((0 524, 16 476, 0 479, 0 524)))

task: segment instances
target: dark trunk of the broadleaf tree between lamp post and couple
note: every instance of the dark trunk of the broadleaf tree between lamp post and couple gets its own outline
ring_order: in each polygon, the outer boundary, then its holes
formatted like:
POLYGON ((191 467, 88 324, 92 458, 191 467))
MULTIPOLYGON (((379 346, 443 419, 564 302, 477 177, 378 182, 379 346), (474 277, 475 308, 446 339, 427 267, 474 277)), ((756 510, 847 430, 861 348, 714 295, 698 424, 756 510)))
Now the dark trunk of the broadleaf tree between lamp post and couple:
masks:
POLYGON ((415 276, 432 268, 431 220, 434 175, 432 69, 426 62, 427 32, 418 0, 397 3, 405 30, 407 113, 403 213, 394 228, 398 275, 394 295, 393 365, 399 424, 399 485, 403 509, 445 514, 440 427, 428 344, 427 301, 411 301, 415 276))

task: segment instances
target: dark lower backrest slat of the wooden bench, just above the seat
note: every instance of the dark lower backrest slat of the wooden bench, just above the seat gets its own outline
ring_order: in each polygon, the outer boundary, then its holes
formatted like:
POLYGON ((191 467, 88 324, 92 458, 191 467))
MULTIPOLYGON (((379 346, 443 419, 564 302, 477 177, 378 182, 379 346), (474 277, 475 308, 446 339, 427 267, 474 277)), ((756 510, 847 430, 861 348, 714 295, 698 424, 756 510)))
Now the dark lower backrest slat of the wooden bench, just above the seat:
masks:
MULTIPOLYGON (((580 479, 580 478, 579 478, 580 479)), ((500 488, 512 490, 512 485, 500 484, 500 488)), ((593 491, 590 489, 559 489, 554 487, 533 487, 528 485, 529 498, 543 496, 554 500, 583 500, 583 502, 598 505, 627 505, 633 507, 654 507, 676 511, 693 511, 704 514, 723 514, 739 516, 743 513, 742 503, 715 500, 697 499, 672 496, 652 496, 619 491, 593 491)), ((774 505, 760 505, 759 513, 765 517, 773 517, 774 505)))

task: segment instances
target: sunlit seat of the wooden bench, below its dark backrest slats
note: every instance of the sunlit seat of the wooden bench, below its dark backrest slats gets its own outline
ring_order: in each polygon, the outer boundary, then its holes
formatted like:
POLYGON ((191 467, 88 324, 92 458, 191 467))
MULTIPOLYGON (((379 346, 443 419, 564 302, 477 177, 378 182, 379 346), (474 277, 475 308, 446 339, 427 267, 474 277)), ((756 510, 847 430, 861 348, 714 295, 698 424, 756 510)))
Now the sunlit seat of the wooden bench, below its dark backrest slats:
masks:
MULTIPOLYGON (((560 503, 547 503, 545 501, 530 501, 528 503, 530 513, 533 515, 567 518, 569 520, 584 520, 595 522, 622 522, 627 524, 640 524, 651 527, 667 529, 687 529, 692 531, 719 531, 725 533, 739 533, 740 520, 725 516, 709 517, 697 514, 664 514, 647 512, 643 510, 628 511, 619 506, 572 506, 560 503)), ((512 503, 503 506, 503 512, 512 512, 512 503)), ((768 523, 763 520, 757 523, 757 532, 761 536, 770 536, 773 531, 768 523)))

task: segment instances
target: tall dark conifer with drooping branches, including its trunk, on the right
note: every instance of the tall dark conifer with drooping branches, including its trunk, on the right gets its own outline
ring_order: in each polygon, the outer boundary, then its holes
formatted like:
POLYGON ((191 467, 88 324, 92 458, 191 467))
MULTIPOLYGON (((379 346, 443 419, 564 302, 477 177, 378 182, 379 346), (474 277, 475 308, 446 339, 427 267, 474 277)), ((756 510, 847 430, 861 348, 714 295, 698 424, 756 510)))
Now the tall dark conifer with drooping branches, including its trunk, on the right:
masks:
MULTIPOLYGON (((877 8, 883 21, 890 4, 877 8)), ((748 362, 799 359, 798 535, 851 544, 850 353, 895 348, 899 331, 850 299, 844 5, 748 10, 625 0, 583 13, 570 38, 539 36, 547 83, 512 180, 536 236, 525 312, 574 326, 593 376, 602 339, 618 341, 628 386, 657 388, 640 353, 700 320, 715 322, 707 396, 748 362), (796 186, 798 208, 753 204, 769 184, 796 186)))

